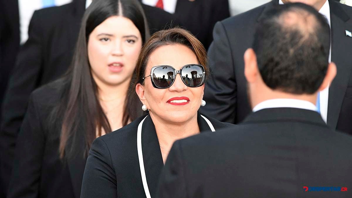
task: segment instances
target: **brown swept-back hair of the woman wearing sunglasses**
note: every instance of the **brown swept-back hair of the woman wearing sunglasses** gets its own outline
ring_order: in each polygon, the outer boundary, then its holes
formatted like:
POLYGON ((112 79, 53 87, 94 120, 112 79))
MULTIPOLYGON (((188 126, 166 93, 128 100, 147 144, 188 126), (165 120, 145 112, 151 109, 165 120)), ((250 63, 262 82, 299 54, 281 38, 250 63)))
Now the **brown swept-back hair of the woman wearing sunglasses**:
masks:
POLYGON ((207 63, 207 51, 205 50, 203 44, 189 31, 175 27, 154 33, 144 44, 137 59, 136 73, 132 77, 132 79, 135 80, 130 86, 130 93, 136 92, 136 85, 138 83, 143 85, 143 77, 149 75, 145 74, 145 69, 151 53, 157 48, 165 45, 184 45, 191 49, 196 55, 199 64, 204 67, 205 81, 207 80, 209 76, 209 67, 207 63))

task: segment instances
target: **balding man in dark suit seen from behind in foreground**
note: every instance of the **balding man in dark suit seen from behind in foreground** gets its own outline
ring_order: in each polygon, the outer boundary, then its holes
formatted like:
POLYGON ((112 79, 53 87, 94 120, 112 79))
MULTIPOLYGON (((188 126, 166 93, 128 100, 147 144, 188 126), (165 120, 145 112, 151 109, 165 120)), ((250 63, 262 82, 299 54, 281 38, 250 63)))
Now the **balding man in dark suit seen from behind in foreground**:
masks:
POLYGON ((352 136, 328 128, 314 105, 336 74, 329 44, 313 7, 269 11, 244 55, 253 113, 237 127, 176 141, 158 197, 352 197, 352 136))

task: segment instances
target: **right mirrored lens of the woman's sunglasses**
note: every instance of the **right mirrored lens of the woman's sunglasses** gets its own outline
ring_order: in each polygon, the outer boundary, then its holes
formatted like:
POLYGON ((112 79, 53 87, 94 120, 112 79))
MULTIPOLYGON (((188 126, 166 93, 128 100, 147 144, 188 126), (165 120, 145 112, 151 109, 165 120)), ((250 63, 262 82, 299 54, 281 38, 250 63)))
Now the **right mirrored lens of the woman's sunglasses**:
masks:
POLYGON ((181 71, 183 82, 189 87, 200 86, 203 82, 203 70, 198 65, 188 65, 181 71))

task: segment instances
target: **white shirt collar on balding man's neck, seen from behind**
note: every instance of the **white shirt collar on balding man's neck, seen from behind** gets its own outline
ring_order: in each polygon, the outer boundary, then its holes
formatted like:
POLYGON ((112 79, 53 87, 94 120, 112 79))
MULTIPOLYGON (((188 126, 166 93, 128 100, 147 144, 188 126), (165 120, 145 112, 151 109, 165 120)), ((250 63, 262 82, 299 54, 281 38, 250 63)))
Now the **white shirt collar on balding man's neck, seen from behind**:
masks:
POLYGON ((270 108, 298 108, 298 109, 307 109, 311 111, 316 111, 316 106, 306 100, 298 100, 298 99, 271 99, 265 100, 259 104, 257 104, 253 108, 253 112, 262 110, 262 109, 270 109, 270 108))

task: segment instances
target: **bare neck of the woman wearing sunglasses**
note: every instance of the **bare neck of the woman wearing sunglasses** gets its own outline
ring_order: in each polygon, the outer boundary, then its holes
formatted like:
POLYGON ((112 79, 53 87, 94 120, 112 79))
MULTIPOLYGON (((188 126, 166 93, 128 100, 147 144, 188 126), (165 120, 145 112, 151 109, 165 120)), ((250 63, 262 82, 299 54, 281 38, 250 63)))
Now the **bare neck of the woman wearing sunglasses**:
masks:
POLYGON ((199 134, 200 132, 197 114, 184 123, 171 123, 153 115, 152 112, 150 112, 150 117, 155 125, 159 145, 167 151, 171 149, 172 144, 176 140, 199 134))

